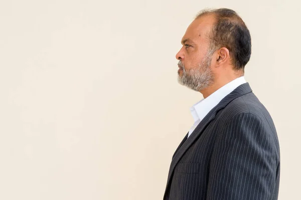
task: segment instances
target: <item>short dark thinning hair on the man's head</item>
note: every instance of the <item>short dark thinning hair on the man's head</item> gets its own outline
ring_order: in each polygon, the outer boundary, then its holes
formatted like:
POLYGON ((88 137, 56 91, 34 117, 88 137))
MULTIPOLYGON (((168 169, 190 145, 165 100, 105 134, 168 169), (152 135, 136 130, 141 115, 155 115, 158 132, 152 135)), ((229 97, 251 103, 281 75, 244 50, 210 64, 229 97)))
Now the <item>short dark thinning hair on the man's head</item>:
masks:
POLYGON ((221 47, 229 49, 231 62, 235 70, 244 70, 251 56, 251 35, 241 17, 232 9, 204 9, 195 19, 213 13, 216 22, 210 32, 210 48, 221 47))

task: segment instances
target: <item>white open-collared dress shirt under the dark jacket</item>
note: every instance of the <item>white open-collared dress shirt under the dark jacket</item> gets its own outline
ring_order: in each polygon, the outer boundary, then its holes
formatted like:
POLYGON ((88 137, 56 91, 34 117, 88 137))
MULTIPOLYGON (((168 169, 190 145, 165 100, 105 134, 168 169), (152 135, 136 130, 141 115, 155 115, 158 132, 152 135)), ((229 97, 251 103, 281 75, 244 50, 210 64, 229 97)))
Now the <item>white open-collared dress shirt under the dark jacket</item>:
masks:
POLYGON ((244 76, 236 78, 235 80, 232 80, 213 92, 207 98, 204 98, 194 104, 190 108, 191 114, 194 118, 194 124, 190 128, 188 136, 191 135, 197 125, 203 120, 203 118, 210 112, 212 108, 214 108, 226 95, 231 93, 236 87, 243 83, 246 83, 244 76))

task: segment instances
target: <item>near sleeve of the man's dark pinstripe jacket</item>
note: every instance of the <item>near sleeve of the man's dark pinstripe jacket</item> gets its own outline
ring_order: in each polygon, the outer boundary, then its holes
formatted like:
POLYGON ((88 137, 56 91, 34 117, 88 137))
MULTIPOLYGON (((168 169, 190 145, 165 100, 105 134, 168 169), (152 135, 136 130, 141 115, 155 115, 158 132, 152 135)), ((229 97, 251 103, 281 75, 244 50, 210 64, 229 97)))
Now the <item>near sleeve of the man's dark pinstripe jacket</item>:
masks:
POLYGON ((271 199, 277 164, 268 124, 251 113, 235 115, 217 136, 208 200, 271 199))

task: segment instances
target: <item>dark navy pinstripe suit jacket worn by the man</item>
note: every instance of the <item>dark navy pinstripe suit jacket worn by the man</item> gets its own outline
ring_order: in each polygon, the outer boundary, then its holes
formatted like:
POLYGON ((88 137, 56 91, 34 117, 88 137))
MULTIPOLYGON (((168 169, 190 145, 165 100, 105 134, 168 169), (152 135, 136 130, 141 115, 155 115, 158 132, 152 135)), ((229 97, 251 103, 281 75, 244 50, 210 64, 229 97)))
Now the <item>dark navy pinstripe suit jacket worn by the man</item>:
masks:
POLYGON ((276 129, 249 83, 223 98, 173 155, 164 200, 277 199, 276 129))

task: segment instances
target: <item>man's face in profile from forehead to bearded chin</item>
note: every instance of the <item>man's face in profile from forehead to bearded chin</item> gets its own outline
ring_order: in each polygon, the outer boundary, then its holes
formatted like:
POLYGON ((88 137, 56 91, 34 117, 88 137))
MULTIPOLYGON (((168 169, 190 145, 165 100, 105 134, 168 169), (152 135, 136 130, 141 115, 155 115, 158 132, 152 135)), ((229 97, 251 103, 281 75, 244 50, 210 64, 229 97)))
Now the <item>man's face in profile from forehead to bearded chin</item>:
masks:
POLYGON ((208 35, 214 24, 214 15, 208 14, 195 19, 187 28, 182 39, 179 59, 178 81, 191 89, 200 91, 214 81, 211 68, 212 49, 208 35))

